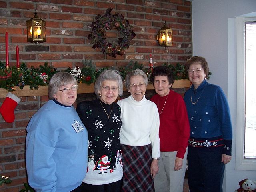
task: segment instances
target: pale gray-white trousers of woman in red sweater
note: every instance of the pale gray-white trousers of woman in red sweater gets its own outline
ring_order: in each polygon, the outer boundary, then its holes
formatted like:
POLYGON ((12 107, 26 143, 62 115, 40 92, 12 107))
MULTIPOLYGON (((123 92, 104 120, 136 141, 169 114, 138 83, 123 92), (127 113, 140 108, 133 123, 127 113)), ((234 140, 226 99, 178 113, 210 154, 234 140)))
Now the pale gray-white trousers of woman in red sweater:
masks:
POLYGON ((154 178, 155 192, 182 192, 186 172, 188 148, 183 159, 182 169, 174 171, 177 151, 160 152, 159 171, 154 178))

